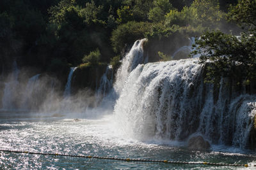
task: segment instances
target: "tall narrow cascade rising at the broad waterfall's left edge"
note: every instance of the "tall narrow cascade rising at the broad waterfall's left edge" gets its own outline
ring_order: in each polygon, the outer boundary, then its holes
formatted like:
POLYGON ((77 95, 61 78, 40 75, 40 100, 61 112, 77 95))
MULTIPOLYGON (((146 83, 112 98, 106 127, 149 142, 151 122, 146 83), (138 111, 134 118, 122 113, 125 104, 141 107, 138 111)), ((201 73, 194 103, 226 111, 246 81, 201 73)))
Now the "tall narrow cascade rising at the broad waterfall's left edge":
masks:
POLYGON ((131 73, 131 71, 135 69, 138 64, 142 64, 144 62, 142 45, 145 41, 147 41, 147 39, 137 40, 129 53, 127 53, 122 60, 122 66, 120 66, 116 73, 116 81, 114 84, 114 89, 117 96, 120 95, 129 73, 131 73))

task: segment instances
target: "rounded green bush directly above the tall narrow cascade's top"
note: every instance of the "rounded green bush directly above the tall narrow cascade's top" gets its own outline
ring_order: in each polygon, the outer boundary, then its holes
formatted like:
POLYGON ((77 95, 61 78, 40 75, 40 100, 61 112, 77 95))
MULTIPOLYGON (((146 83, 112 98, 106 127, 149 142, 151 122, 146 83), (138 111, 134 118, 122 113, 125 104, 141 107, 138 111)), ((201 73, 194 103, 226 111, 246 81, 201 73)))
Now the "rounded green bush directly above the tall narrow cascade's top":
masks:
POLYGON ((125 45, 134 43, 137 39, 145 37, 145 32, 150 31, 148 22, 127 22, 119 25, 113 32, 111 42, 115 52, 121 52, 125 45))

